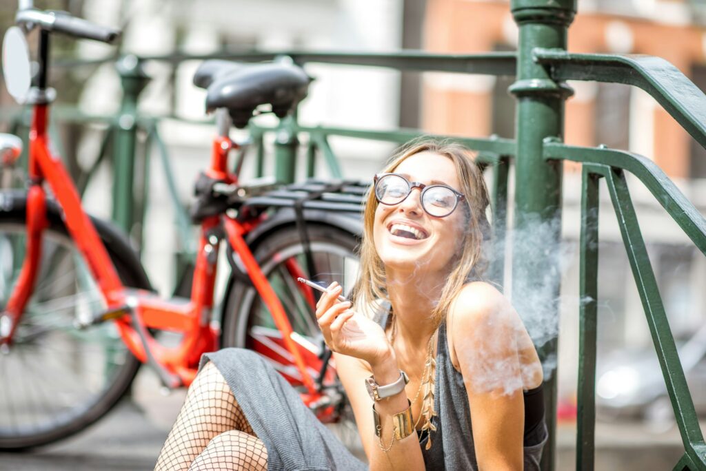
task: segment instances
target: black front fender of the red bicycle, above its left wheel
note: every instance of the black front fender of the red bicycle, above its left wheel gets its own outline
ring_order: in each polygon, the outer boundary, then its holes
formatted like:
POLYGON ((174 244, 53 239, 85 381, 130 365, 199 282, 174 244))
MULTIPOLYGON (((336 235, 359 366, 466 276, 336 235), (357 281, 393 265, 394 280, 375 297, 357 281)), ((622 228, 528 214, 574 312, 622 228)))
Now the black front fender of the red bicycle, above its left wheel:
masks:
MULTIPOLYGON (((27 212, 27 193, 23 190, 1 191, 0 212, 24 216, 27 212)), ((114 252, 121 260, 135 268, 133 271, 139 277, 136 280, 139 286, 143 289, 152 290, 152 284, 140 262, 140 258, 130 245, 130 240, 125 233, 109 221, 90 215, 89 217, 109 251, 114 252)), ((64 224, 64 212, 54 200, 47 199, 47 220, 64 224)))

